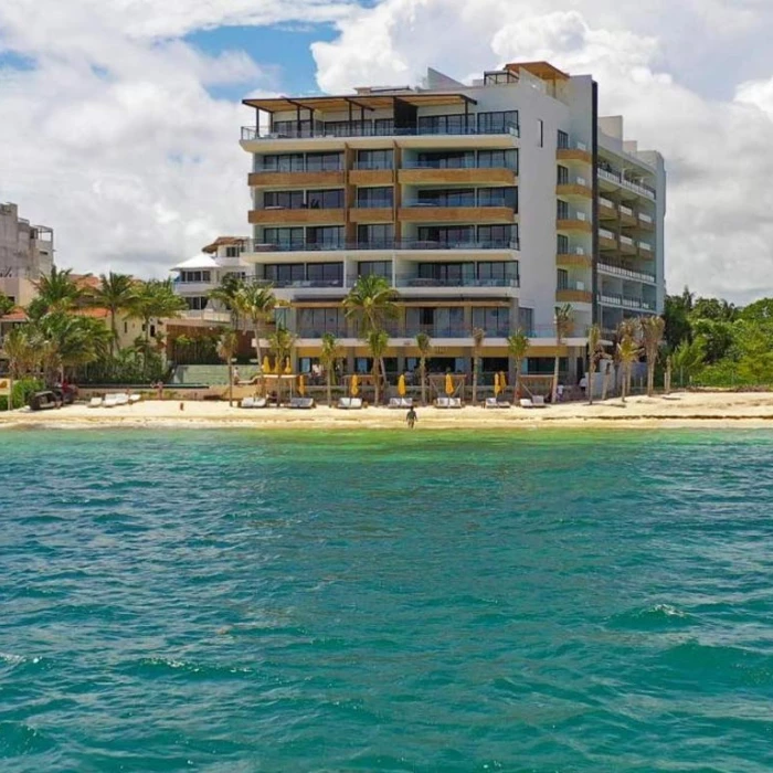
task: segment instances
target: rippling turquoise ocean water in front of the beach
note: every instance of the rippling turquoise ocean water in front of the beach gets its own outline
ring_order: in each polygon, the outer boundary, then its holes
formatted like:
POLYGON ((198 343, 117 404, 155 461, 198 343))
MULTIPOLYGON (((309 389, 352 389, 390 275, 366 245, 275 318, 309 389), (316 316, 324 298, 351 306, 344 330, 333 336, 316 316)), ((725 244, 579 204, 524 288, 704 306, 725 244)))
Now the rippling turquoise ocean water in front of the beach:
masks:
POLYGON ((773 770, 773 434, 0 432, 0 771, 773 770))

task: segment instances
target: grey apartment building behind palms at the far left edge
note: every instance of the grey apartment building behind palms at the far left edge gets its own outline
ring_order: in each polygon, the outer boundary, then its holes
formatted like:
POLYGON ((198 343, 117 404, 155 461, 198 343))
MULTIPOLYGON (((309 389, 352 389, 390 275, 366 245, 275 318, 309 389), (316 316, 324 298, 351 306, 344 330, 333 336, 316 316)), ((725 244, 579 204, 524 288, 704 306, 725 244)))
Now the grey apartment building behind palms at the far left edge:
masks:
POLYGON ((34 297, 32 283, 53 265, 53 230, 19 218, 17 204, 0 204, 0 292, 28 304, 34 297))

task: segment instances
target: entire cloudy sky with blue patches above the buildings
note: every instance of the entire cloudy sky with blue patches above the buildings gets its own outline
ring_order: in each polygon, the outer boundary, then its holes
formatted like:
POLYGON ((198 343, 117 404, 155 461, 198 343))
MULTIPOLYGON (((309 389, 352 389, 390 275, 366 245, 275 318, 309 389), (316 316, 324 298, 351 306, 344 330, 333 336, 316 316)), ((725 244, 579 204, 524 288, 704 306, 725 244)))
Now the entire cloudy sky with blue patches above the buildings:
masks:
POLYGON ((78 272, 166 276, 248 234, 253 95, 549 60, 669 173, 668 292, 773 295, 770 0, 3 0, 0 201, 78 272))

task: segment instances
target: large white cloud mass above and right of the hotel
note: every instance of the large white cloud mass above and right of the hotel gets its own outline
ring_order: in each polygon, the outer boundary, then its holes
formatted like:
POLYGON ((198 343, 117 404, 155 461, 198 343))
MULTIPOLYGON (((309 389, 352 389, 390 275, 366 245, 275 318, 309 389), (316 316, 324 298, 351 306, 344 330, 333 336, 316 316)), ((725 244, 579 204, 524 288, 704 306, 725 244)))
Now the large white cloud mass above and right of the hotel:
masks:
POLYGON ((602 112, 623 113, 626 134, 666 157, 669 290, 689 284, 735 300, 773 295, 773 53, 760 62, 764 77, 735 86, 729 98, 710 84, 727 81, 730 54, 770 29, 773 3, 565 7, 544 0, 534 13, 527 0, 384 0, 339 22, 337 40, 313 46, 318 82, 326 91, 415 83, 426 65, 466 78, 529 60, 592 73, 602 112), (696 63, 706 68, 700 77, 696 63), (707 81, 700 91, 688 85, 707 81))

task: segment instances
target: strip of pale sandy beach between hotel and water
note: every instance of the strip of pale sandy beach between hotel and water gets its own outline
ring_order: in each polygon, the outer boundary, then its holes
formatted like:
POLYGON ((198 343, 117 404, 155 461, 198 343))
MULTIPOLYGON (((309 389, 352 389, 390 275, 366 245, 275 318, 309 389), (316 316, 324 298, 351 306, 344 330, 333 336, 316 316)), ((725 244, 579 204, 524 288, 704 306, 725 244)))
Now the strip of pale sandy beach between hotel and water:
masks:
MULTIPOLYGON (((416 431, 499 430, 518 427, 773 427, 773 393, 679 392, 669 396, 628 398, 604 403, 566 403, 544 409, 462 410, 419 407, 416 431)), ((89 409, 77 404, 56 411, 29 409, 0 413, 0 427, 260 427, 290 430, 401 428, 404 410, 368 407, 340 411, 318 406, 310 411, 290 409, 244 410, 226 402, 149 400, 113 409, 89 409), (182 405, 182 409, 181 409, 182 405)))

